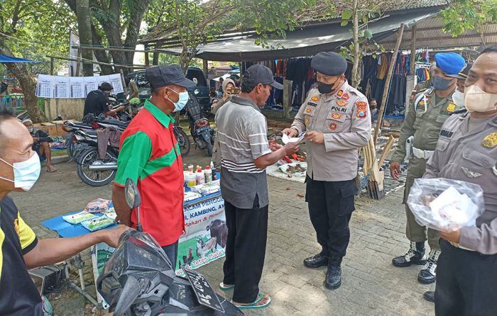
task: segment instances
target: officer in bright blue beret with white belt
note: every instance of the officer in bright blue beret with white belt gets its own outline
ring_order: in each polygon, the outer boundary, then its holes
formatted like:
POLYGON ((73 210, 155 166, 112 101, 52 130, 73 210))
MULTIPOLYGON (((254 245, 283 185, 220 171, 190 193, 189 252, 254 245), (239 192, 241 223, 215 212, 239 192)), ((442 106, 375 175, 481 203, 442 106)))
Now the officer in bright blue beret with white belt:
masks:
MULTIPOLYGON (((409 158, 408 176, 405 181, 404 203, 407 200, 414 179, 421 178, 425 173, 426 162, 432 156, 437 145, 442 124, 449 115, 457 111, 457 106, 452 101, 452 94, 456 88, 457 78, 449 77, 459 74, 464 68, 465 61, 455 53, 439 53, 435 55, 436 67, 433 71, 432 88, 416 94, 410 102, 404 123, 400 130, 398 147, 393 152, 390 171, 393 179, 398 180, 400 163, 406 154, 411 152, 409 158), (412 146, 406 145, 409 142, 412 146)), ((435 282, 437 259, 440 254, 439 235, 432 229, 419 225, 413 213, 405 203, 407 215, 406 235, 410 240, 410 249, 402 256, 393 258, 392 264, 398 267, 411 266, 412 264, 425 264, 417 275, 417 281, 424 284, 435 282), (425 240, 430 245, 430 256, 427 260, 425 254, 425 240)))

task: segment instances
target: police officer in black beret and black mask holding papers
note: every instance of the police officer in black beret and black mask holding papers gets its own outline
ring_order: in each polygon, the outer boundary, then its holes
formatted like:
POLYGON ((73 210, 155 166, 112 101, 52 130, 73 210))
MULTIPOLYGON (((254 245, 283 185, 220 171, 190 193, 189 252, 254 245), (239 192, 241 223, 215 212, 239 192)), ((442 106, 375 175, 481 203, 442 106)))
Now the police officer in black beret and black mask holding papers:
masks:
POLYGON ((290 137, 307 131, 306 201, 317 242, 322 252, 304 260, 308 268, 328 266, 327 288, 342 284, 340 265, 349 244, 349 220, 354 211, 354 179, 358 150, 371 136, 366 96, 349 86, 347 64, 336 52, 320 52, 312 58, 317 89, 312 89, 295 115, 290 137))

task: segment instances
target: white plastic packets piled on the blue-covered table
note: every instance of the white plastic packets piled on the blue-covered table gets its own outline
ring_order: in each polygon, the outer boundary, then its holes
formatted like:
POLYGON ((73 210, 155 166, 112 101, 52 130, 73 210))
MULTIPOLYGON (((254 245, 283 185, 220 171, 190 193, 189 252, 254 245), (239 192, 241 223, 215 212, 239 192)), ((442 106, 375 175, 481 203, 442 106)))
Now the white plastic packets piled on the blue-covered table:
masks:
POLYGON ((103 198, 97 198, 97 200, 88 203, 81 212, 62 216, 66 222, 72 225, 81 224, 90 232, 103 230, 114 225, 116 217, 116 211, 111 206, 111 201, 103 198))

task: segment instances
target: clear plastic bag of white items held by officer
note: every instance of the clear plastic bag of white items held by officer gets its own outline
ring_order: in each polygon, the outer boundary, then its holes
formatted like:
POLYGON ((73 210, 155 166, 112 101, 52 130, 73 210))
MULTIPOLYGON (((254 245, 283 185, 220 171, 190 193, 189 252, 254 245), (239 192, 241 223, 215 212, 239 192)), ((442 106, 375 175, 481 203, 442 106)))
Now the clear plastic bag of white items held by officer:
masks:
POLYGON ((408 205, 420 225, 453 232, 476 225, 476 218, 485 211, 484 191, 466 181, 415 179, 408 205))

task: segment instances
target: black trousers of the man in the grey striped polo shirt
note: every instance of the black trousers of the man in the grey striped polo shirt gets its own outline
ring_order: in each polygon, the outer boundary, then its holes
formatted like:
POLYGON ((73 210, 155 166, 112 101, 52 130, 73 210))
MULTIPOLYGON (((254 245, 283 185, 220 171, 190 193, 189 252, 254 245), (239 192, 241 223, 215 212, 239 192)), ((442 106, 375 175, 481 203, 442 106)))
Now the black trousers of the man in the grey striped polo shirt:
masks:
POLYGON ((266 256, 268 205, 259 208, 256 195, 252 209, 236 208, 224 201, 224 211, 228 240, 223 283, 234 284, 234 302, 252 303, 259 293, 266 256))

